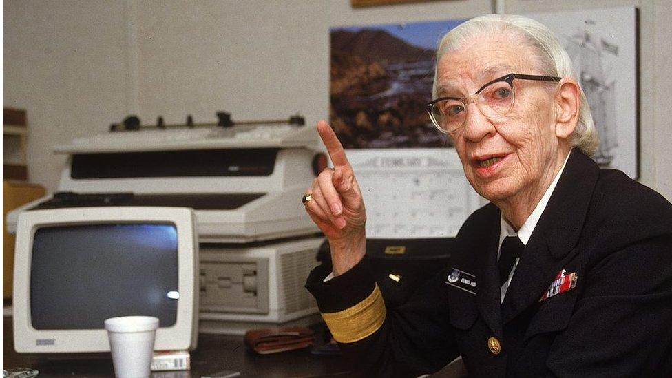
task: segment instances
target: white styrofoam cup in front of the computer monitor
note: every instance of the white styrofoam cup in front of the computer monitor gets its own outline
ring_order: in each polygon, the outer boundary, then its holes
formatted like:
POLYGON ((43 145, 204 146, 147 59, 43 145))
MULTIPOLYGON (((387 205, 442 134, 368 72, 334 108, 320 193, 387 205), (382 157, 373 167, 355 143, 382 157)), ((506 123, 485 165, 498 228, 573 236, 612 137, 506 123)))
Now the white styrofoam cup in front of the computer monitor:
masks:
POLYGON ((120 378, 149 377, 151 356, 158 318, 122 316, 105 319, 105 329, 112 351, 114 375, 120 378))

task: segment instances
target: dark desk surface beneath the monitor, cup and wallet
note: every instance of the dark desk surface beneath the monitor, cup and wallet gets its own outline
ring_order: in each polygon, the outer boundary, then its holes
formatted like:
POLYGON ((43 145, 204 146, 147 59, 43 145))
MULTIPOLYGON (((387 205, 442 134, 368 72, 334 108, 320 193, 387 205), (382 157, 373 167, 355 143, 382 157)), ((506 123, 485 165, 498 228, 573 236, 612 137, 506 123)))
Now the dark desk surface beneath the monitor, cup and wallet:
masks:
MULTIPOLYGON (((34 368, 40 372, 38 377, 114 377, 109 353, 19 354, 14 351, 11 317, 3 318, 2 333, 4 368, 34 368)), ((191 351, 191 370, 154 372, 152 378, 198 378, 222 370, 239 371, 241 377, 348 376, 347 364, 340 356, 311 355, 308 348, 258 355, 244 346, 242 336, 200 334, 198 348, 191 351)))

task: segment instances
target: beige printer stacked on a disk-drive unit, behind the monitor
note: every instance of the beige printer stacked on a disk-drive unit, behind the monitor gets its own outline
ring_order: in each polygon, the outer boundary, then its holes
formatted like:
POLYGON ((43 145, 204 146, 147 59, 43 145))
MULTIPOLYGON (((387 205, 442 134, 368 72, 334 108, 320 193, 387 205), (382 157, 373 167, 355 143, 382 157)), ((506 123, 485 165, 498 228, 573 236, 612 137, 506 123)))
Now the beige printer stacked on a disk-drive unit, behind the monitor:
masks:
MULTIPOLYGON (((224 116, 224 120, 222 120, 224 116)), ((54 147, 67 154, 56 193, 10 212, 93 206, 190 207, 200 244, 200 328, 242 334, 317 313, 304 280, 324 238, 299 200, 326 165, 304 119, 140 126, 54 147)), ((129 122, 130 119, 130 122, 129 122)))

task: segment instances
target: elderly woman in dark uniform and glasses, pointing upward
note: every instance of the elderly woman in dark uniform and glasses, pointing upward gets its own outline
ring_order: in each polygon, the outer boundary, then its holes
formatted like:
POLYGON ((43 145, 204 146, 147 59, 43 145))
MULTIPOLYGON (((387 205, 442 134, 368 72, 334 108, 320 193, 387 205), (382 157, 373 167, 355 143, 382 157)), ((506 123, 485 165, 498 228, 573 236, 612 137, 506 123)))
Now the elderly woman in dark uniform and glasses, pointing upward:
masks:
POLYGON ((672 205, 588 157, 589 107, 552 32, 516 16, 459 25, 439 45, 428 110, 491 203, 395 311, 363 260, 353 169, 317 125, 334 168, 304 204, 333 272, 316 268, 306 287, 353 368, 417 376, 461 355, 481 377, 672 375, 672 205))

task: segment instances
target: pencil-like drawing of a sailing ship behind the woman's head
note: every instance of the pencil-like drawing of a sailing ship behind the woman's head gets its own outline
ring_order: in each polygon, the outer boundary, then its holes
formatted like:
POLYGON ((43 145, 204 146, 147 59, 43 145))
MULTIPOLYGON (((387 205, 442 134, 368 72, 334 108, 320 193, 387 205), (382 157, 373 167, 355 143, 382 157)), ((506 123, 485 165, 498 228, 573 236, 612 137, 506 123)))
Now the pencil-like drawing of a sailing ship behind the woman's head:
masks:
POLYGON ((585 21, 585 28, 565 37, 565 49, 574 63, 583 92, 590 105, 595 128, 600 138, 593 159, 603 167, 613 161, 618 147, 616 120, 616 79, 609 77, 607 54, 618 56, 618 45, 604 36, 591 33, 589 27, 596 25, 593 20, 585 21))

